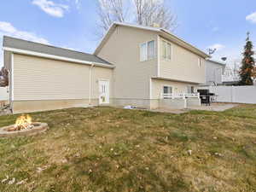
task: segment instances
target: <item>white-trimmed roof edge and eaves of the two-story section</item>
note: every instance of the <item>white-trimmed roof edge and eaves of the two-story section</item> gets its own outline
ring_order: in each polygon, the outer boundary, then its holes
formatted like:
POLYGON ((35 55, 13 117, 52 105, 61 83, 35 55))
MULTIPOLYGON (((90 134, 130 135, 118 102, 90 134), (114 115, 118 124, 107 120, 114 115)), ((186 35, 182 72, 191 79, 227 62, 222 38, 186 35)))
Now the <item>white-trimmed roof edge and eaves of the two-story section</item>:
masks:
POLYGON ((210 55, 207 55, 201 49, 198 49, 194 45, 189 44, 189 43, 183 41, 183 39, 178 38, 177 36, 173 35, 172 32, 169 32, 169 31, 167 31, 164 28, 151 27, 151 26, 139 26, 139 25, 134 25, 134 24, 119 23, 119 22, 114 22, 112 24, 112 26, 110 26, 110 28, 108 29, 108 32, 102 38, 102 41, 100 42, 100 44, 97 46, 97 48, 96 48, 96 50, 94 52, 95 55, 97 55, 99 53, 99 51, 102 49, 102 46, 108 41, 108 38, 111 36, 111 34, 114 32, 114 29, 117 26, 128 26, 128 27, 133 27, 133 28, 138 28, 138 29, 143 29, 143 30, 157 32, 158 34, 160 34, 164 38, 169 39, 173 43, 178 44, 178 45, 182 46, 185 49, 189 49, 191 52, 193 52, 193 53, 195 53, 197 55, 201 55, 204 58, 210 57, 210 55))

